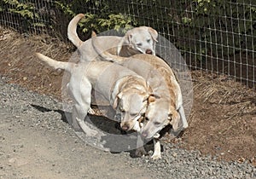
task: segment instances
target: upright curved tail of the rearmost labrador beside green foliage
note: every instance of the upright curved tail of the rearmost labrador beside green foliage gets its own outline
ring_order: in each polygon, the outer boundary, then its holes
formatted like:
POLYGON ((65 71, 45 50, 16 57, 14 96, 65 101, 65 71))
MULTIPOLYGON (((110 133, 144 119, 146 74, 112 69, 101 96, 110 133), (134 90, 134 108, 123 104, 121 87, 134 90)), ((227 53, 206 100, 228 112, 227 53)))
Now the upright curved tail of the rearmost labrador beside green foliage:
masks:
POLYGON ((83 43, 77 33, 77 26, 82 18, 84 18, 84 14, 77 14, 67 26, 67 37, 77 48, 83 43))

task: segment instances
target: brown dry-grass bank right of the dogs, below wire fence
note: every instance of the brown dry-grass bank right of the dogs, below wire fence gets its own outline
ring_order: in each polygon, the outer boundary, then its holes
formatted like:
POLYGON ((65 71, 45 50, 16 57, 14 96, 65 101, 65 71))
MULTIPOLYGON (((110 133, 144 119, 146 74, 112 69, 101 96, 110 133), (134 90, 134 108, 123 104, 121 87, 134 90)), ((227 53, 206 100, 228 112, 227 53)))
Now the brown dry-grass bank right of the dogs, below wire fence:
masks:
POLYGON ((255 93, 226 76, 193 72, 194 107, 183 147, 211 153, 219 159, 255 162, 255 93))

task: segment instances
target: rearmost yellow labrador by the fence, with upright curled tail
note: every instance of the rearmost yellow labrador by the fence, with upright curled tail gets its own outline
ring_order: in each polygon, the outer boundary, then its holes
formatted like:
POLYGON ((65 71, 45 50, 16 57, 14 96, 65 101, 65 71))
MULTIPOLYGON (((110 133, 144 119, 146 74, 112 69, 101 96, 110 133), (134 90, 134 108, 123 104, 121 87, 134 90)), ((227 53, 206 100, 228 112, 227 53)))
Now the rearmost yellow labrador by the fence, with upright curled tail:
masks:
MULTIPOLYGON (((70 41, 79 49, 80 61, 93 61, 98 56, 91 45, 91 40, 84 43, 78 36, 76 30, 79 21, 84 18, 84 14, 77 14, 69 22, 67 36, 70 41)), ((102 50, 108 50, 113 55, 131 56, 136 54, 155 55, 155 43, 158 32, 148 26, 140 26, 125 33, 124 37, 100 36, 96 37, 96 44, 102 50)))

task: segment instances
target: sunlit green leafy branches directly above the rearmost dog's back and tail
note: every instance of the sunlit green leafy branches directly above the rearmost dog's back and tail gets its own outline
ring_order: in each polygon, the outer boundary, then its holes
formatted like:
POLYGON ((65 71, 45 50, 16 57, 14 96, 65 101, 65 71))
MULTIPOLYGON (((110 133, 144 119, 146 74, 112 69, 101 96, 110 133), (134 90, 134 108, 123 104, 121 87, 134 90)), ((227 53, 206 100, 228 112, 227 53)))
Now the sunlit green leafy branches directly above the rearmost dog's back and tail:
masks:
POLYGON ((96 32, 104 32, 110 29, 119 31, 120 29, 130 29, 136 25, 136 22, 131 20, 131 17, 109 9, 110 3, 107 0, 93 1, 93 0, 75 0, 72 3, 65 3, 65 1, 55 1, 55 3, 61 8, 64 14, 67 14, 70 18, 75 14, 84 13, 85 18, 80 21, 79 26, 83 32, 90 32, 94 30, 96 32), (91 9, 84 7, 95 6, 97 12, 92 12, 91 9))

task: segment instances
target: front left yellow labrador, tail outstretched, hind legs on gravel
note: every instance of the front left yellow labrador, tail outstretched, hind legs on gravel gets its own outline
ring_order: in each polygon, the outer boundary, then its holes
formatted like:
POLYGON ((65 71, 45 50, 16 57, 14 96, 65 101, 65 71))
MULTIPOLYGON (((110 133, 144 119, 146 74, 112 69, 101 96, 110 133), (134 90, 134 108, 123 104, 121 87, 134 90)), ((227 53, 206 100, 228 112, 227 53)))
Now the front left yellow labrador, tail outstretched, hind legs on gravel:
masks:
POLYGON ((55 61, 45 55, 36 54, 38 59, 55 69, 70 72, 67 84, 75 102, 73 106, 73 127, 84 130, 87 136, 96 136, 97 131, 84 123, 90 108, 92 88, 103 95, 119 113, 121 125, 129 130, 137 128, 137 118, 147 109, 150 92, 144 78, 124 66, 109 61, 73 62, 55 61))

